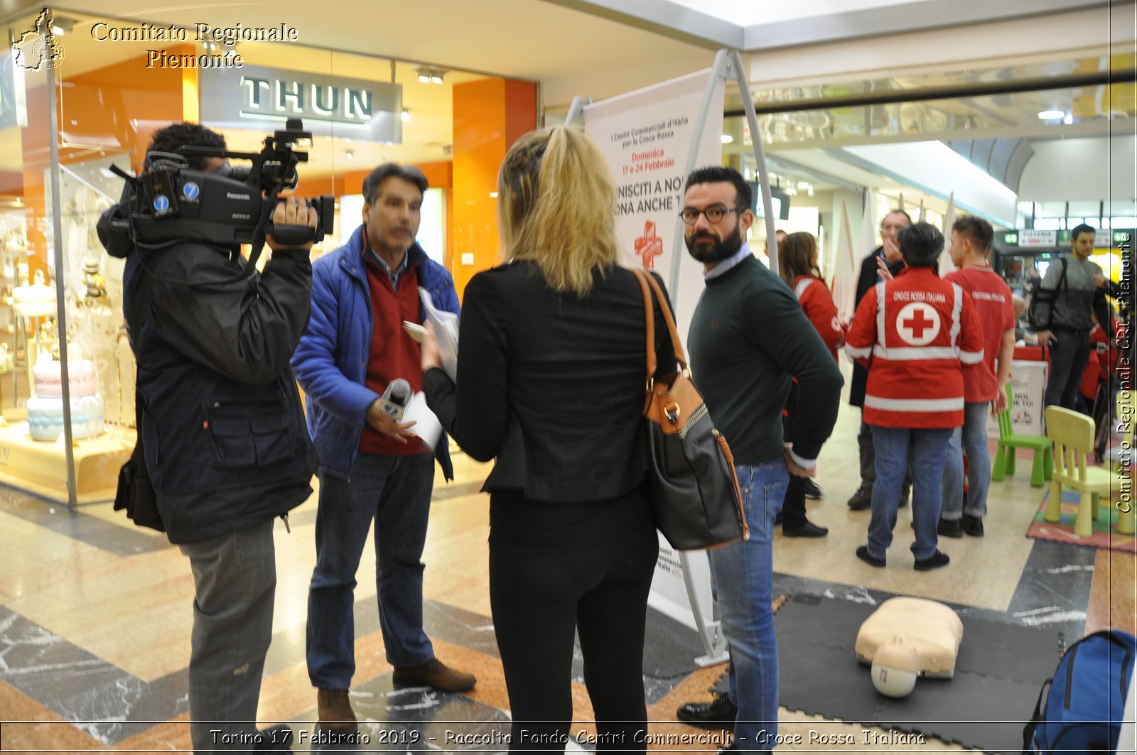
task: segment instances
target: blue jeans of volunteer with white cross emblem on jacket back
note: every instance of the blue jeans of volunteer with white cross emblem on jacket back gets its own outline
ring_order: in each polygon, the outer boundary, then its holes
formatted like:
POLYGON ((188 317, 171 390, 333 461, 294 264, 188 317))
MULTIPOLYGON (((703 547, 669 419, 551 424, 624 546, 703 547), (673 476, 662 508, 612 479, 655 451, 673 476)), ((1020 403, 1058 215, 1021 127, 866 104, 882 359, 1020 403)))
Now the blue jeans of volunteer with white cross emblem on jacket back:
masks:
POLYGON ((893 528, 901 504, 904 471, 912 470, 912 522, 916 539, 912 554, 916 561, 936 554, 936 525, 939 523, 944 484, 944 457, 952 429, 872 426, 877 451, 877 481, 872 484, 872 518, 869 521, 869 555, 883 558, 893 544, 893 528), (908 465, 911 449, 912 464, 908 465))

